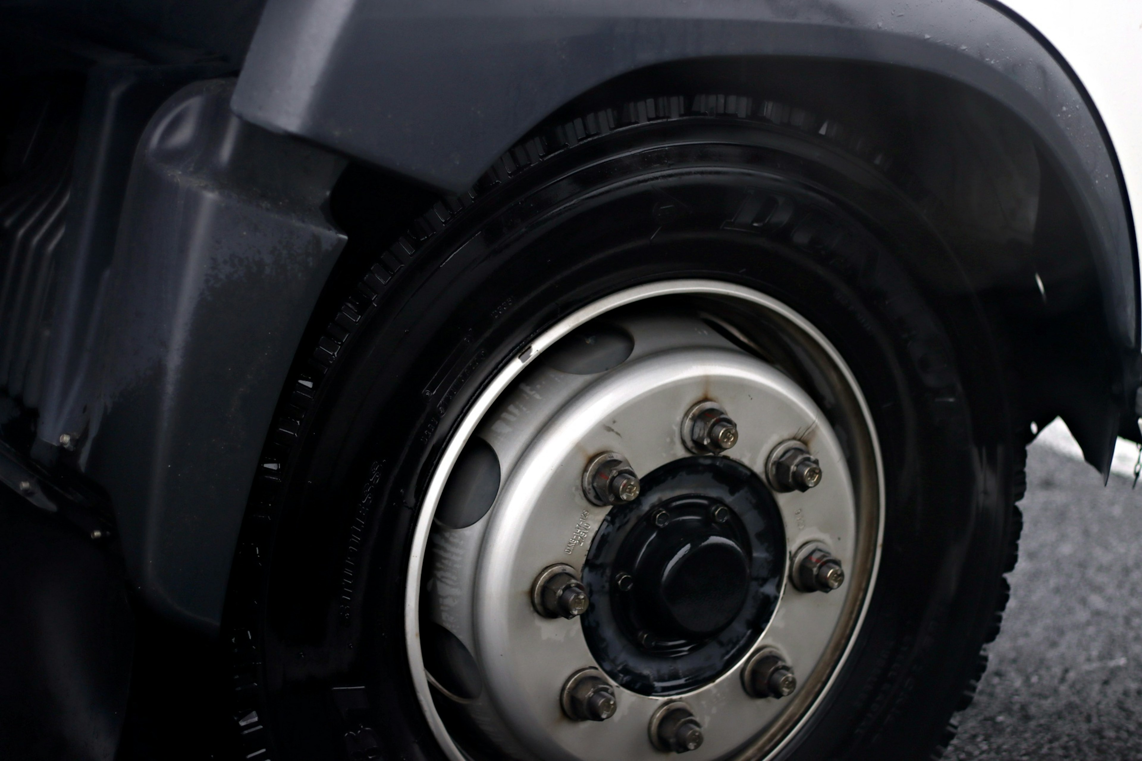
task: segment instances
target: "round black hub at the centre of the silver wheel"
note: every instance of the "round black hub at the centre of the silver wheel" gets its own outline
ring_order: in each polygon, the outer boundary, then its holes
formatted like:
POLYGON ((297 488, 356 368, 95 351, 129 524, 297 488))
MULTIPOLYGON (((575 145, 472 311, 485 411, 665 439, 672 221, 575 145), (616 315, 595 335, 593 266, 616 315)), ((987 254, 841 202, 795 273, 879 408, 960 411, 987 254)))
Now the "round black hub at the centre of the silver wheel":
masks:
POLYGON ((592 544, 584 631, 617 682, 669 695, 717 678, 762 633, 781 591, 785 529, 761 479, 724 457, 676 460, 642 488, 592 544))

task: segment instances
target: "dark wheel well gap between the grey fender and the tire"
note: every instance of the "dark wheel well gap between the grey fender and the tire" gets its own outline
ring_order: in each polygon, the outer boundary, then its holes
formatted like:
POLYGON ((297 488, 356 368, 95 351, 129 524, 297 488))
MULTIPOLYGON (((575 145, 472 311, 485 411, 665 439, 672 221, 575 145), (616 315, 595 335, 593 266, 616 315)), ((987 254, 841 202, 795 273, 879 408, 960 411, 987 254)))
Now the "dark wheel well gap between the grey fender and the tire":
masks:
MULTIPOLYGON (((1016 430, 1061 415, 1102 468, 1113 434, 1140 438, 1124 399, 1136 349, 1118 346, 1081 209, 1035 131, 987 95, 948 78, 882 64, 805 58, 706 58, 641 69, 566 103, 544 125, 636 99, 724 93, 773 99, 839 125, 849 144, 871 143, 956 254, 958 273, 914 251, 903 264, 926 288, 982 307, 1006 377, 997 378, 1016 430), (1121 428, 1121 430, 1120 430, 1121 428)), ((544 125, 524 141, 539 135, 544 125)), ((331 211, 354 239, 387 246, 439 197, 357 167, 331 211), (353 187, 351 193, 348 189, 353 187), (364 190, 371 189, 371 190, 364 190), (363 213, 361 192, 401 198, 401 219, 363 213), (403 223, 403 224, 397 224, 403 223)), ((389 206, 388 208, 393 208, 389 206)), ((353 269, 353 267, 349 267, 353 269)), ((1030 433, 1027 433, 1030 436, 1030 433)))

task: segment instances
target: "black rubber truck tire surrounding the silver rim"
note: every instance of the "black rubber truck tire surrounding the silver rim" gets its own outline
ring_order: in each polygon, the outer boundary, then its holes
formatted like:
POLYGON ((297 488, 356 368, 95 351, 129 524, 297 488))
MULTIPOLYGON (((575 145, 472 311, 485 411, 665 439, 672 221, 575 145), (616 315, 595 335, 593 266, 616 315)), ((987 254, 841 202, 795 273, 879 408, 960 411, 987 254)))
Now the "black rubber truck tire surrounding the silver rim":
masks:
POLYGON ((541 128, 377 251, 315 315, 323 329, 299 352, 251 496, 226 614, 241 755, 443 758, 402 630, 434 458, 530 336, 678 277, 748 286, 811 320, 880 438, 877 586, 781 758, 939 755, 998 631, 1023 450, 986 323, 948 295, 966 288, 922 287, 909 270, 919 257, 957 272, 884 155, 771 102, 629 103, 541 128))

